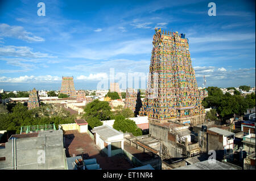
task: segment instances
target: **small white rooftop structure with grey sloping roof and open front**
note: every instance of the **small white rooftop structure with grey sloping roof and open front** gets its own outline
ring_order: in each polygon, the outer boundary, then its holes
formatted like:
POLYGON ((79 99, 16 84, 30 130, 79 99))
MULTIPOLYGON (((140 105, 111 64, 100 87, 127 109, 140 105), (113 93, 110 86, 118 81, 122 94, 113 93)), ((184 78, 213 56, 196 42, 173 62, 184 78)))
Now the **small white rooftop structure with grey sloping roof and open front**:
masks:
POLYGON ((112 157, 115 154, 122 153, 123 133, 116 131, 114 128, 108 125, 102 125, 100 127, 94 127, 92 133, 95 133, 96 145, 100 147, 108 155, 112 157))

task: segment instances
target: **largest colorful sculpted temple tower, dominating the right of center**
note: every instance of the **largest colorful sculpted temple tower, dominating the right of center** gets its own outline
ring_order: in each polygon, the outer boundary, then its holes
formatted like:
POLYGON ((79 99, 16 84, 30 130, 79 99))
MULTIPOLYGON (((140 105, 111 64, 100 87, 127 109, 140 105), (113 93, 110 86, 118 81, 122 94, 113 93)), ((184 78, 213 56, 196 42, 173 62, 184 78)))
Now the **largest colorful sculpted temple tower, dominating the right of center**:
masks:
POLYGON ((145 99, 141 116, 151 123, 179 121, 184 124, 204 123, 201 102, 207 90, 199 90, 188 50, 188 39, 178 32, 155 29, 145 99))

